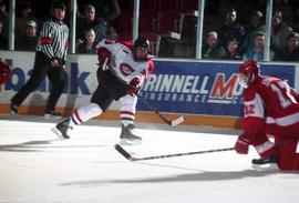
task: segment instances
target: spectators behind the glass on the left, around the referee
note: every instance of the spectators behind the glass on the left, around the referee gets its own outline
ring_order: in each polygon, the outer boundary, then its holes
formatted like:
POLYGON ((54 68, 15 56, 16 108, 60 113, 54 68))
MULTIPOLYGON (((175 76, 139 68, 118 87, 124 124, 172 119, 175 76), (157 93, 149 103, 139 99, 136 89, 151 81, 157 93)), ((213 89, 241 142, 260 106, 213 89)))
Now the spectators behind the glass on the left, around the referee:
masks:
MULTIPOLYGON (((34 51, 42 22, 51 18, 52 3, 55 0, 39 3, 37 0, 17 1, 16 50, 34 51)), ((60 0, 63 1, 63 0, 60 0)), ((70 9, 70 1, 63 1, 70 9)), ((81 0, 76 13, 76 52, 94 53, 95 44, 102 39, 117 40, 113 21, 121 13, 117 0, 81 0)), ((8 49, 8 0, 0 0, 0 49, 8 49)), ((65 23, 70 27, 70 12, 65 23)))

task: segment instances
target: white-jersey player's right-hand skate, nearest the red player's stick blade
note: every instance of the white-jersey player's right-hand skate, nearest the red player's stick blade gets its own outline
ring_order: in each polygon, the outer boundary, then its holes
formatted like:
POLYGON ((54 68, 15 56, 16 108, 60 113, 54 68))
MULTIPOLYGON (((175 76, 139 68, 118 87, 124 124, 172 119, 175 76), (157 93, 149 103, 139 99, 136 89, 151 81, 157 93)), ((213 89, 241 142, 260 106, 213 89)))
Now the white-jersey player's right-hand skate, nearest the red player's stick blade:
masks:
POLYGON ((142 138, 135 135, 134 128, 135 128, 134 124, 128 124, 127 126, 124 126, 122 124, 120 144, 131 145, 131 144, 140 144, 142 142, 142 138))

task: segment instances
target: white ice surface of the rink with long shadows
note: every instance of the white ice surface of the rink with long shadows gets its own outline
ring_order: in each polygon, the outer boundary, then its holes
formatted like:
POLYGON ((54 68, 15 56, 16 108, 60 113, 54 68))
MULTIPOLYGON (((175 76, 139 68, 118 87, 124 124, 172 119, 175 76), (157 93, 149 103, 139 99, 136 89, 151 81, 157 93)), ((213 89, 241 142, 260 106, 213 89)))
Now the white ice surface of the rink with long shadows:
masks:
MULTIPOLYGON (((1 203, 296 203, 299 173, 254 169, 234 151, 131 162, 114 150, 120 124, 91 121, 70 140, 56 120, 0 115, 1 203)), ((240 131, 136 123, 134 156, 231 148, 240 131)))

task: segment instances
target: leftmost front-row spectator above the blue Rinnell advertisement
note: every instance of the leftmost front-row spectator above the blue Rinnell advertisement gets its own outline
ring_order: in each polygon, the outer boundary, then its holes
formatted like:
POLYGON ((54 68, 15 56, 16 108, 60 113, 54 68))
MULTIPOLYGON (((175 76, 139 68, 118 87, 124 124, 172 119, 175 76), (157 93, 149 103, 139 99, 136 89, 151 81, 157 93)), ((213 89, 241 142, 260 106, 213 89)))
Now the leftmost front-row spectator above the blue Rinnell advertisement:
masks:
POLYGON ((203 59, 223 59, 225 49, 219 44, 218 33, 209 32, 203 47, 203 59))

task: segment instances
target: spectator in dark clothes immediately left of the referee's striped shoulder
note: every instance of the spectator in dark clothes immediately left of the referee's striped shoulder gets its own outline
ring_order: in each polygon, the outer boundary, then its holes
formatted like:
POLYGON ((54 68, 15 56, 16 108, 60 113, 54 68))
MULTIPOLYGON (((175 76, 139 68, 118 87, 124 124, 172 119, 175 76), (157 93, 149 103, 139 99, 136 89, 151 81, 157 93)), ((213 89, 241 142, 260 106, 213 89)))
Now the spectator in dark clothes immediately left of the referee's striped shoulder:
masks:
POLYGON ((38 37, 38 26, 34 20, 29 20, 25 23, 25 33, 16 40, 16 50, 35 51, 38 37))

